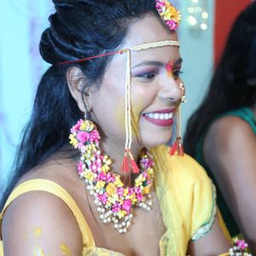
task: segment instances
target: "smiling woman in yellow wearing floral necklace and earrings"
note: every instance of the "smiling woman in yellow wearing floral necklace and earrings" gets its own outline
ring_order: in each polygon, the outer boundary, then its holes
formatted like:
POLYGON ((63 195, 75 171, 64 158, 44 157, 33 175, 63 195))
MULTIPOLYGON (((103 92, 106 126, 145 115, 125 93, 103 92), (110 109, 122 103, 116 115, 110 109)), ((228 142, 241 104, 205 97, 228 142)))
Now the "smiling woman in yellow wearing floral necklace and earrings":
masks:
POLYGON ((163 146, 183 96, 177 10, 153 0, 54 3, 40 43, 52 66, 0 216, 4 255, 227 252, 210 179, 163 146))

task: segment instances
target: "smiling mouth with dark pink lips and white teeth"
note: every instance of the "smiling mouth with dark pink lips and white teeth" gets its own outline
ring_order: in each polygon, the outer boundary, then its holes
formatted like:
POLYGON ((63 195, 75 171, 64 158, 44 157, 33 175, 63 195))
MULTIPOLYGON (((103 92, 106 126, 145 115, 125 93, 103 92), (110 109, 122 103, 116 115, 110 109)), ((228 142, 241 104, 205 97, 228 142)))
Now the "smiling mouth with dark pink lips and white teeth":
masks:
POLYGON ((172 126, 175 109, 162 109, 150 113, 143 113, 143 118, 159 126, 172 126))

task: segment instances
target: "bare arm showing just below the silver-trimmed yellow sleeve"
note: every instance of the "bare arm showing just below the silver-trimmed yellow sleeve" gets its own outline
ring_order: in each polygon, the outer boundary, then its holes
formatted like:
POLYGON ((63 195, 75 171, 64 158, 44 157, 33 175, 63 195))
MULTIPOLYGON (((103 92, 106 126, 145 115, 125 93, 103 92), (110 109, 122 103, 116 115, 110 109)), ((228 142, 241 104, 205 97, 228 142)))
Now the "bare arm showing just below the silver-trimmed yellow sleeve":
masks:
POLYGON ((196 241, 190 241, 188 255, 191 256, 216 256, 226 253, 232 247, 229 239, 224 236, 224 231, 219 225, 218 218, 212 226, 212 230, 206 236, 196 241))

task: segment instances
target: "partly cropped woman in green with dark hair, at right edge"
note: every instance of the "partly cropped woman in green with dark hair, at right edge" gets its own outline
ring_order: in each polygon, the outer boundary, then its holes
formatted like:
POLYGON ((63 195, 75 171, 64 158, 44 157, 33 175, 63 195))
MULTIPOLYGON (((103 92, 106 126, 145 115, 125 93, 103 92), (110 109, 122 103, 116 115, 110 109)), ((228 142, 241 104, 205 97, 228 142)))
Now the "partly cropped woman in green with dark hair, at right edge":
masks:
POLYGON ((206 99, 189 119, 184 146, 217 185, 231 236, 256 253, 256 3, 238 16, 206 99))

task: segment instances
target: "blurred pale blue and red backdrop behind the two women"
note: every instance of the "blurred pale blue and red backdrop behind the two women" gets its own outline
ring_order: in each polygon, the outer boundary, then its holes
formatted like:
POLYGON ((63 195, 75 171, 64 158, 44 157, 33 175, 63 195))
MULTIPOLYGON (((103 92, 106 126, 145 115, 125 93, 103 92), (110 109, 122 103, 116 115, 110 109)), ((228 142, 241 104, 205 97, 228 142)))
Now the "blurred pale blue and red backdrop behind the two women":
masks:
MULTIPOLYGON (((183 132, 189 116, 207 93, 232 22, 250 2, 175 0, 183 15, 179 30, 187 94, 183 132)), ((20 132, 31 113, 38 81, 48 67, 39 55, 38 42, 53 12, 50 0, 0 0, 0 195, 20 132)))

